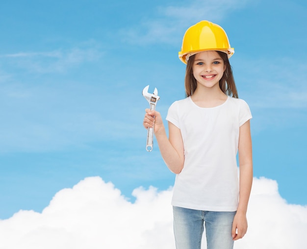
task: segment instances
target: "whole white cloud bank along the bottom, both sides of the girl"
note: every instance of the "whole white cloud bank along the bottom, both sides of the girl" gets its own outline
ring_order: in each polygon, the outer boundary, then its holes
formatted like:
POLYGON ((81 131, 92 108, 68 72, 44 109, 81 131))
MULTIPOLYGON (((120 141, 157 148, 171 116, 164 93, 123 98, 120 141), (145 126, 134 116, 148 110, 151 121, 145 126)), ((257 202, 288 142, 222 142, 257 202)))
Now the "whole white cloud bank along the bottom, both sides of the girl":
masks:
MULTIPOLYGON (((171 195, 140 187, 131 203, 112 183, 88 177, 59 191, 42 213, 21 210, 1 220, 0 249, 175 248, 171 195)), ((306 246, 307 207, 286 203, 274 180, 254 179, 248 219, 236 249, 306 246)))

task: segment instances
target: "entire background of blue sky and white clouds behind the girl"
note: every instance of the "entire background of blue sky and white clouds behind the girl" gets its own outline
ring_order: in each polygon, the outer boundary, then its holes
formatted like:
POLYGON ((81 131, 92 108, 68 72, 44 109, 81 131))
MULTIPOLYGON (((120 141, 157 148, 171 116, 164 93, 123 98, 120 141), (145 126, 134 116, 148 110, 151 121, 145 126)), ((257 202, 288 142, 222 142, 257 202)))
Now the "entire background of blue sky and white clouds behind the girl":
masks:
POLYGON ((306 13, 303 0, 1 1, 0 249, 174 248, 175 176, 145 149, 141 92, 158 89, 164 117, 184 98, 178 51, 200 20, 227 31, 253 113, 236 248, 303 248, 306 13))

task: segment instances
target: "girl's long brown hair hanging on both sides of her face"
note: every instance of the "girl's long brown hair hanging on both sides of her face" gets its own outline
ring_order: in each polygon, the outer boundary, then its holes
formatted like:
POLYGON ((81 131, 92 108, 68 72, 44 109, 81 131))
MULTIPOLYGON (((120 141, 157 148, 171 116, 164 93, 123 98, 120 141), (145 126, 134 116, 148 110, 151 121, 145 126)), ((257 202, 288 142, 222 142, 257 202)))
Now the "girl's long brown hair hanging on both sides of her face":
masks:
MULTIPOLYGON (((226 95, 229 95, 233 98, 238 98, 238 92, 234 83, 232 69, 229 63, 227 53, 221 51, 216 51, 216 52, 221 56, 221 58, 224 61, 224 65, 226 66, 225 72, 219 82, 220 88, 223 91, 223 93, 225 93, 226 95)), ((191 96, 195 92, 197 87, 197 82, 193 75, 194 60, 195 60, 195 54, 189 57, 189 60, 187 61, 186 64, 185 78, 184 78, 186 97, 191 96)))

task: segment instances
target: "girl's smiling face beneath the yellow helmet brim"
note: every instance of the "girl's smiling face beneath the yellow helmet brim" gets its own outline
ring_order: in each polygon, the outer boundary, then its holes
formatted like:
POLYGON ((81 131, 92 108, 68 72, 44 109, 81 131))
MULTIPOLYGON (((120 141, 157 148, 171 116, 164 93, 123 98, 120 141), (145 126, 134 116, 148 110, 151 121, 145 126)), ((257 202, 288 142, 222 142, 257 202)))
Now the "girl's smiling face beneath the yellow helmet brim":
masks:
POLYGON ((219 88, 219 81, 224 74, 226 65, 216 51, 203 51, 195 54, 192 69, 197 87, 219 88))

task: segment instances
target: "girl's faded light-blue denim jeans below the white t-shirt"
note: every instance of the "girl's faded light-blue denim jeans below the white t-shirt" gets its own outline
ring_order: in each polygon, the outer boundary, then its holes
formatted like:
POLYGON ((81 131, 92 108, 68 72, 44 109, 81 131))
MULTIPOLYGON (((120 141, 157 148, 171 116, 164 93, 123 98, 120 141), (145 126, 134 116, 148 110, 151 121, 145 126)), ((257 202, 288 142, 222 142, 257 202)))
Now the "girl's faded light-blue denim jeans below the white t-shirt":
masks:
POLYGON ((235 213, 173 206, 176 249, 201 249, 204 222, 207 249, 233 249, 231 229, 235 213))

